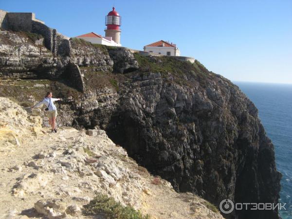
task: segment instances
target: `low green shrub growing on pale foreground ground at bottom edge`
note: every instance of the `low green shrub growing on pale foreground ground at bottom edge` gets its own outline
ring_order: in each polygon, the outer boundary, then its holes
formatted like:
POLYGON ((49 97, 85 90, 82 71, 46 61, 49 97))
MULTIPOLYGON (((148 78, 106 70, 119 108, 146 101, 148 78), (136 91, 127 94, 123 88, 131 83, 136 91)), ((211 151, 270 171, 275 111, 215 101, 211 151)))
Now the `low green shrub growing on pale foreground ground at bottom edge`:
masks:
POLYGON ((106 219, 150 219, 149 215, 143 216, 133 207, 124 207, 120 202, 101 193, 83 207, 85 215, 104 214, 106 219))

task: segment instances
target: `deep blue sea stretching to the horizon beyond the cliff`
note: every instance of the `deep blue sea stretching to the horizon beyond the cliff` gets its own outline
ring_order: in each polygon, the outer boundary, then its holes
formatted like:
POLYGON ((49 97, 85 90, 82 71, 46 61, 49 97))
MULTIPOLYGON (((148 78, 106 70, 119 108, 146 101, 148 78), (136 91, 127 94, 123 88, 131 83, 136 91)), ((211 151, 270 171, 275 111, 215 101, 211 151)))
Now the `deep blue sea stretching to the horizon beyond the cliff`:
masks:
POLYGON ((287 210, 282 219, 292 219, 292 84, 233 82, 258 109, 258 116, 274 144, 277 170, 282 173, 279 202, 287 210))

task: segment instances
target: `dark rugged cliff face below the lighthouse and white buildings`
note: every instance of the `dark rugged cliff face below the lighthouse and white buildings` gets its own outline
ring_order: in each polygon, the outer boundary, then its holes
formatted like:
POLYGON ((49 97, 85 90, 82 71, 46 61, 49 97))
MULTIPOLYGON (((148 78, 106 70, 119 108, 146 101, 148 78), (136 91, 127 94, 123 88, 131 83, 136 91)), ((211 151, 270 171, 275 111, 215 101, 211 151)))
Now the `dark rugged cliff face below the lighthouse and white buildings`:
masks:
MULTIPOLYGON (((139 164, 177 191, 196 193, 217 206, 227 198, 277 202, 281 174, 256 107, 236 85, 199 62, 146 57, 76 39, 70 40, 70 56, 53 56, 19 33, 1 31, 0 39, 0 72, 6 78, 2 96, 36 101, 41 91, 53 89, 63 98, 60 125, 106 130, 139 164), (33 62, 25 61, 32 57, 33 62), (83 92, 74 90, 76 82, 68 79, 69 63, 80 68, 83 92), (23 80, 27 75, 33 80, 23 80), (19 84, 19 78, 27 83, 19 84)), ((279 218, 276 210, 224 217, 279 218)))

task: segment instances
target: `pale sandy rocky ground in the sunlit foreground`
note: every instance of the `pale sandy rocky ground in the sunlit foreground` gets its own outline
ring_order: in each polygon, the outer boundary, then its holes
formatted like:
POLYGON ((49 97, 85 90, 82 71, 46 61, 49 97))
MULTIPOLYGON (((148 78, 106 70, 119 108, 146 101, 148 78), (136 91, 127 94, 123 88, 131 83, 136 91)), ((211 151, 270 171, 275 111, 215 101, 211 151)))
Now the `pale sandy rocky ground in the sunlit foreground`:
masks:
POLYGON ((51 133, 41 123, 0 97, 0 218, 102 218, 82 214, 96 192, 151 218, 222 218, 207 201, 138 166, 104 130, 51 133))

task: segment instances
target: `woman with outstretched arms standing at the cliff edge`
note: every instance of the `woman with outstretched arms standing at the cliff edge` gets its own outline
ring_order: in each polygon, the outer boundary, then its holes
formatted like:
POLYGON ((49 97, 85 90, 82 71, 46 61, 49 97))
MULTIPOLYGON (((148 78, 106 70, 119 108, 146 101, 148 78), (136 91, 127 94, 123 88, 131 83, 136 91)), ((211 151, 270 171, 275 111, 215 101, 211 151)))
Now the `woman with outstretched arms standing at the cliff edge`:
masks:
POLYGON ((52 96, 52 92, 47 92, 46 97, 42 101, 38 102, 37 105, 31 107, 31 109, 45 104, 47 106, 46 111, 48 111, 49 123, 52 127, 52 132, 57 132, 57 129, 55 128, 55 121, 58 113, 54 105, 54 101, 60 100, 60 98, 52 98, 52 96))

